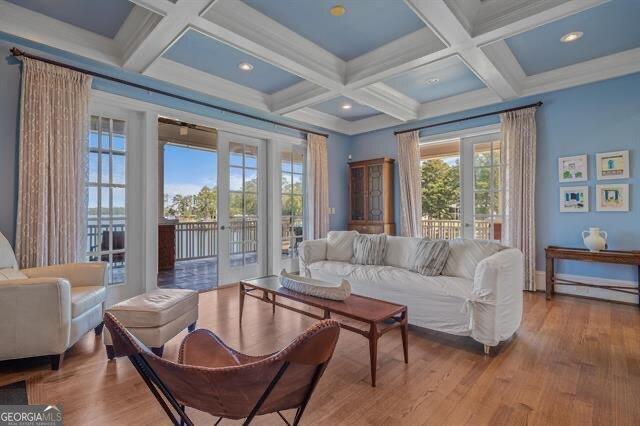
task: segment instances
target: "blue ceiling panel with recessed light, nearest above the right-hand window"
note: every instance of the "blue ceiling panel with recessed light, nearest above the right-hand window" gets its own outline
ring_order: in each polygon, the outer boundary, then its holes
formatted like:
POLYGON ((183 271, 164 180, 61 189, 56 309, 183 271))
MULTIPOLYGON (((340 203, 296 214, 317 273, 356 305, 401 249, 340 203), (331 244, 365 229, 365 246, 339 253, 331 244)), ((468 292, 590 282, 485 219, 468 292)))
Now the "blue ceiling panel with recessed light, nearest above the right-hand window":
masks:
POLYGON ((420 103, 485 87, 482 80, 457 57, 414 68, 384 83, 420 103), (438 79, 438 82, 428 84, 431 79, 438 79))

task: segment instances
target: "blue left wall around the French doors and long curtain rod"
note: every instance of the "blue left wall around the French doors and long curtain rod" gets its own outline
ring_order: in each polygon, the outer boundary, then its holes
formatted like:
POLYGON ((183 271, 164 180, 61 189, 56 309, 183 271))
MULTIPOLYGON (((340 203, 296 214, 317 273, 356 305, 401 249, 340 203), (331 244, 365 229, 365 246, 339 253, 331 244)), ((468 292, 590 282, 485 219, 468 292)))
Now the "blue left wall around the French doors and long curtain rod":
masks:
MULTIPOLYGON (((125 71, 120 68, 104 65, 95 61, 82 58, 58 49, 54 49, 39 43, 34 43, 19 37, 11 36, 0 32, 0 232, 7 236, 10 241, 15 237, 16 203, 17 203, 17 150, 18 150, 18 127, 19 127, 19 88, 20 88, 20 66, 15 58, 11 57, 9 49, 16 46, 31 53, 41 54, 52 59, 61 59, 67 63, 82 66, 84 68, 108 74, 138 84, 158 88, 164 91, 189 96, 194 99, 213 103, 223 107, 233 108, 238 111, 247 112, 253 115, 275 119, 280 122, 290 122, 298 126, 314 128, 306 124, 301 125, 286 118, 271 115, 263 111, 224 101, 222 99, 203 95, 202 93, 187 90, 178 86, 163 83, 150 77, 145 77, 137 73, 125 71)), ((300 136, 300 133, 286 128, 276 128, 274 125, 252 120, 244 117, 233 116, 229 113, 222 113, 216 109, 200 106, 175 98, 148 93, 144 90, 131 88, 130 86, 114 83, 108 80, 94 79, 93 88, 139 99, 146 102, 163 105, 178 110, 217 118, 229 122, 251 126, 258 129, 278 131, 283 134, 300 136)), ((316 130, 319 130, 316 128, 316 130)), ((349 137, 340 133, 329 133, 328 156, 329 156, 329 185, 331 187, 329 203, 336 209, 336 214, 331 216, 331 228, 343 229, 346 227, 347 208, 347 188, 344 185, 344 170, 347 165, 347 152, 349 137)))

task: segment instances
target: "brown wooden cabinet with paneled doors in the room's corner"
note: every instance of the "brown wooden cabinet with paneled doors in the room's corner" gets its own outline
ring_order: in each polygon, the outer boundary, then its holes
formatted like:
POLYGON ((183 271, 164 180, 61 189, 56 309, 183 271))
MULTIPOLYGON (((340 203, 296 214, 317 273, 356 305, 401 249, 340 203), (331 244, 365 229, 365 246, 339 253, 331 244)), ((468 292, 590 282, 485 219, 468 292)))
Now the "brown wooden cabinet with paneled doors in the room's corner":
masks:
POLYGON ((395 235, 393 162, 376 158, 349 163, 349 230, 395 235))

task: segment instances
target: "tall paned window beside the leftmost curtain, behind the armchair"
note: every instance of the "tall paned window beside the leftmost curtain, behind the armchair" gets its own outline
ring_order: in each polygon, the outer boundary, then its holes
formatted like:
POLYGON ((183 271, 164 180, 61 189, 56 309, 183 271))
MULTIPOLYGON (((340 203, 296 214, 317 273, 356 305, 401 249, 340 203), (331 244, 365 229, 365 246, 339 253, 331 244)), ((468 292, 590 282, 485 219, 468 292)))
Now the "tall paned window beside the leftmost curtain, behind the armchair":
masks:
POLYGON ((87 174, 87 258, 107 262, 108 282, 125 281, 126 124, 91 116, 87 174))

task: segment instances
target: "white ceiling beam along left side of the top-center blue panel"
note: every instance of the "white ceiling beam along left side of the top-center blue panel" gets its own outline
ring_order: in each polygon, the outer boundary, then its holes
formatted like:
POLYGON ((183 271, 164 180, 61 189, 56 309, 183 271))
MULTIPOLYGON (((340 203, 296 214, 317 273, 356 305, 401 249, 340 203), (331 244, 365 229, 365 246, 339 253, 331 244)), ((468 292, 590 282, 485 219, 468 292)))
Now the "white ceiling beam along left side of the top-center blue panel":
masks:
POLYGON ((330 90, 344 87, 346 64, 240 0, 219 0, 192 26, 330 90))

